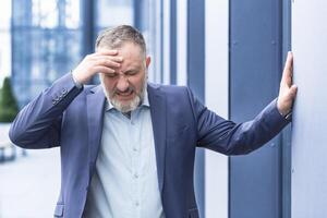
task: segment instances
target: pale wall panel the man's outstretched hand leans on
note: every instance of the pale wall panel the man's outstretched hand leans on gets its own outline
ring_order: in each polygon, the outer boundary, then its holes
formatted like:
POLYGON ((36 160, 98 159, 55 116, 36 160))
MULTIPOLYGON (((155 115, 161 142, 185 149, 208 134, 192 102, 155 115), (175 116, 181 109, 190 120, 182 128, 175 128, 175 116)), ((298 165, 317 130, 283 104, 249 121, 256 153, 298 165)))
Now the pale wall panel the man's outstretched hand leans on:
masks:
POLYGON ((327 2, 295 0, 292 9, 294 82, 292 217, 327 217, 327 2))

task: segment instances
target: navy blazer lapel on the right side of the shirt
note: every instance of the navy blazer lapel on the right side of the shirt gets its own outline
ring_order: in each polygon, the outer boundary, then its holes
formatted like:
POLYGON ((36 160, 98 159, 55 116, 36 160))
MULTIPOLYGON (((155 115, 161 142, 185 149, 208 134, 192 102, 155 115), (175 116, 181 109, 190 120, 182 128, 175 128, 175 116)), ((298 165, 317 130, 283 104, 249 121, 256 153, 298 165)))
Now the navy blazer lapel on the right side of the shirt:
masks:
POLYGON ((159 90, 159 86, 148 84, 147 87, 155 137, 158 182, 161 192, 164 186, 166 153, 166 97, 159 90))

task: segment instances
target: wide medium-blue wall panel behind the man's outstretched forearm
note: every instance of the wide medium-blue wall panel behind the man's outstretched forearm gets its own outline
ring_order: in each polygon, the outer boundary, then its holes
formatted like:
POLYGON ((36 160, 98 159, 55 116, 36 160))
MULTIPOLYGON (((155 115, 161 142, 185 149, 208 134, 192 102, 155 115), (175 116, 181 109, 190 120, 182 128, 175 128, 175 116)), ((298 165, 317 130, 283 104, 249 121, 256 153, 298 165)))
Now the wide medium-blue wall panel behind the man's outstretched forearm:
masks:
MULTIPOLYGON (((278 94, 281 71, 280 1, 231 0, 230 118, 253 119, 278 94)), ((230 158, 230 217, 280 218, 280 140, 230 158)))

